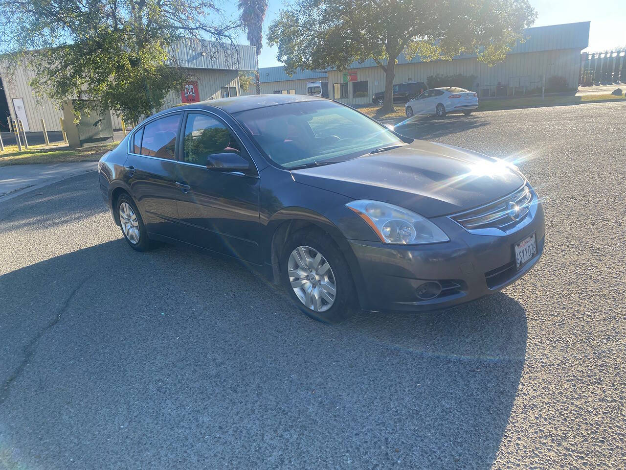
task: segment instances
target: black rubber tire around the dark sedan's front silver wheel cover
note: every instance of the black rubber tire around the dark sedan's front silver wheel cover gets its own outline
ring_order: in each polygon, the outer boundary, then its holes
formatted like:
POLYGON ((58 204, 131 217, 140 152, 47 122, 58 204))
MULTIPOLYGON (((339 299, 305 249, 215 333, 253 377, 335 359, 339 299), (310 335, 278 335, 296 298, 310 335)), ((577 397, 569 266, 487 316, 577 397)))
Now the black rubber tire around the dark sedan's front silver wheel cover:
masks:
MULTIPOLYGON (((346 259, 334 241, 322 231, 302 229, 290 236, 280 257, 280 280, 294 305, 314 320, 330 324, 339 323, 356 311, 356 293, 346 259), (336 293, 334 302, 327 310, 316 311, 304 305, 304 301, 300 300, 292 288, 289 278, 289 258, 292 252, 299 247, 308 247, 321 254, 330 266, 328 270, 330 273, 327 271, 327 275, 331 276, 332 274, 336 293)), ((321 301, 326 302, 326 300, 321 301)))

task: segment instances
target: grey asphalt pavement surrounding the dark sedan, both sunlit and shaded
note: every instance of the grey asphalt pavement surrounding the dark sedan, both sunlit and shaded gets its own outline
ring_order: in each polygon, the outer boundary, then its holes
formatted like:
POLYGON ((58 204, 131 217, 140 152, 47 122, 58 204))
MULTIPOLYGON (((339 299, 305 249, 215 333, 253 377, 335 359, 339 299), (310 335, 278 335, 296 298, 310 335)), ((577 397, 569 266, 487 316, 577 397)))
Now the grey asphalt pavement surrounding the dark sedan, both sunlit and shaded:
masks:
POLYGON ((136 253, 96 174, 0 202, 0 469, 618 469, 626 105, 418 119, 513 155, 546 246, 498 295, 301 315, 235 261, 136 253))

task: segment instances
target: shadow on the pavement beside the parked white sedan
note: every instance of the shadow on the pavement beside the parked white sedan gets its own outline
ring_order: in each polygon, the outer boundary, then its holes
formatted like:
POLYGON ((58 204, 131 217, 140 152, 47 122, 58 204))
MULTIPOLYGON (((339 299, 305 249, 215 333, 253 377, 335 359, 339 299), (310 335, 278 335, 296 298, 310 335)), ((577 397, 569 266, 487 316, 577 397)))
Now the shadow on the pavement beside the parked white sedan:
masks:
POLYGON ((453 133, 476 129, 489 124, 485 118, 475 115, 448 115, 443 118, 413 117, 396 124, 394 130, 401 135, 423 140, 437 140, 453 133))

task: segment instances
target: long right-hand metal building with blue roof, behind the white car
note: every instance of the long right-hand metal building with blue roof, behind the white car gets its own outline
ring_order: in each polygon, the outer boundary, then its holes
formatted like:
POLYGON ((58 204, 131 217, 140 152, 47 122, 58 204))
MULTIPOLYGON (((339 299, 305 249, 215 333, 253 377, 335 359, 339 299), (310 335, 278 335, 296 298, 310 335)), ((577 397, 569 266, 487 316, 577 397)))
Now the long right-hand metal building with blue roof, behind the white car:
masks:
MULTIPOLYGON (((541 86, 542 76, 560 75, 569 88, 577 88, 580 52, 587 48, 589 22, 557 24, 526 29, 526 40, 518 43, 495 66, 478 61, 476 55, 453 60, 423 61, 419 56, 398 57, 394 83, 423 81, 431 75, 476 76, 474 91, 480 97, 521 95, 541 86)), ((350 105, 372 103, 372 95, 384 91, 385 75, 374 60, 354 62, 348 70, 298 71, 285 74, 282 66, 259 70, 261 93, 306 93, 307 81, 327 80, 329 97, 350 105), (324 78, 326 76, 327 78, 324 78)))

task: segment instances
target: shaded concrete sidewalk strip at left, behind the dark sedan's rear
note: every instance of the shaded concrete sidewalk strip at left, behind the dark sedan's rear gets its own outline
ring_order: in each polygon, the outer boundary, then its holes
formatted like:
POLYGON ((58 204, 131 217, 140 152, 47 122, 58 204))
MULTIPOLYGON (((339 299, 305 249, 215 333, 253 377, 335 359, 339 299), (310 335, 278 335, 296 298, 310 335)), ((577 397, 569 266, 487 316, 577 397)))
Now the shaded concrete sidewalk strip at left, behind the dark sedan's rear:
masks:
POLYGON ((98 169, 98 162, 72 162, 0 167, 0 202, 98 169))

